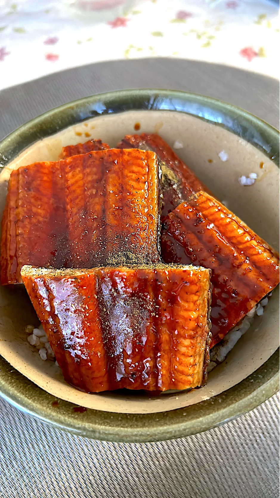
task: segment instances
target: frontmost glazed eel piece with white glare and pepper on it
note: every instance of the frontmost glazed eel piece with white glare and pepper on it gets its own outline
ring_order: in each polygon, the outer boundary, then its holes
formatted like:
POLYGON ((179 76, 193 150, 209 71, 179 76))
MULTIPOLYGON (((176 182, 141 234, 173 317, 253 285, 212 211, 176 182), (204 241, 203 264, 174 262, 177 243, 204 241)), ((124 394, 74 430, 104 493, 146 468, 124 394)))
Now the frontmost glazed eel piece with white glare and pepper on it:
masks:
POLYGON ((21 275, 67 382, 99 392, 205 381, 208 269, 24 266, 21 275))

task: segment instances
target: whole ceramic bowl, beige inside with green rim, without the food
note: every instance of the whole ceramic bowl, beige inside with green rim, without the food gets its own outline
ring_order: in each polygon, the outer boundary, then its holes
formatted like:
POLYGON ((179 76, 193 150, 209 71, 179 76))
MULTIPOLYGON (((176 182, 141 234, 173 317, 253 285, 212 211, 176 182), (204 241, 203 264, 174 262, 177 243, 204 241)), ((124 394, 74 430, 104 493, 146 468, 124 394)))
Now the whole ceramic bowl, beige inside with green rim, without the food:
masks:
MULTIPOLYGON (((11 169, 56 160, 61 147, 91 138, 159 133, 210 190, 275 249, 279 244, 279 133, 249 113, 170 90, 110 92, 71 102, 24 124, 0 143, 0 212, 11 169), (177 143, 178 146, 178 143, 177 143), (221 152, 223 152, 221 154, 221 152), (226 160, 222 160, 225 159, 226 160), (238 178, 257 173, 254 185, 238 178)), ((24 328, 36 316, 22 286, 0 288, 0 394, 20 410, 72 433, 108 441, 156 441, 204 431, 256 407, 279 380, 279 298, 273 293, 208 383, 191 392, 81 393, 42 362, 24 328), (83 408, 78 408, 82 406, 83 408)))

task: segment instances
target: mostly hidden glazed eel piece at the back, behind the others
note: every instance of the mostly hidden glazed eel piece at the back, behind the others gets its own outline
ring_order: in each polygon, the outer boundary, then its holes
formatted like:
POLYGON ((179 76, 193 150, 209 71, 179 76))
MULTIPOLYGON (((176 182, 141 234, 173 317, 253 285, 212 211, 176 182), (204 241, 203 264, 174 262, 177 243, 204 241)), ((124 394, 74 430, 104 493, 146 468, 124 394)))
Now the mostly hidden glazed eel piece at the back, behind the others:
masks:
POLYGON ((187 200, 189 195, 200 190, 211 193, 161 136, 155 133, 126 135, 117 146, 156 152, 162 169, 162 218, 187 200))

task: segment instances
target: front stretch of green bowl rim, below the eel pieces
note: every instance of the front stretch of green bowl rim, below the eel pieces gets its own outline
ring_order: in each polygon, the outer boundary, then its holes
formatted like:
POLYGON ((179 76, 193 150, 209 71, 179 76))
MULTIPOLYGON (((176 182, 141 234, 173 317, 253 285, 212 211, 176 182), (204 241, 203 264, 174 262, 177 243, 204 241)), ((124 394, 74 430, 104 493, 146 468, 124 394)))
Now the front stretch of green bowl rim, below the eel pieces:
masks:
POLYGON ((58 398, 16 370, 11 371, 2 357, 0 369, 9 380, 2 381, 0 377, 0 396, 21 412, 78 436, 117 443, 165 441, 218 427, 269 399, 279 390, 279 357, 278 349, 258 370, 221 394, 185 408, 159 413, 127 414, 93 409, 75 413, 77 405, 59 399, 60 413, 52 407, 58 398), (16 380, 22 384, 20 392, 14 386, 16 380), (34 388, 36 396, 31 398, 29 392, 34 388))

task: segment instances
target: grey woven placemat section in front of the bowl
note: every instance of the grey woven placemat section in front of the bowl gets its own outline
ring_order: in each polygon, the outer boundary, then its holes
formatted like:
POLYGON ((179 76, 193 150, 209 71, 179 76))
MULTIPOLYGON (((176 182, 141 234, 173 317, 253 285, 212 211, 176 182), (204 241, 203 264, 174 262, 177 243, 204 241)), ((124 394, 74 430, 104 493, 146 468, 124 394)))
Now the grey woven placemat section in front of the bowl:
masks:
POLYGON ((279 497, 279 395, 185 439, 124 444, 72 436, 0 400, 1 498, 279 497))

